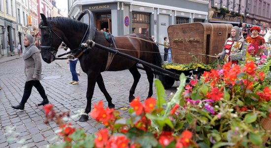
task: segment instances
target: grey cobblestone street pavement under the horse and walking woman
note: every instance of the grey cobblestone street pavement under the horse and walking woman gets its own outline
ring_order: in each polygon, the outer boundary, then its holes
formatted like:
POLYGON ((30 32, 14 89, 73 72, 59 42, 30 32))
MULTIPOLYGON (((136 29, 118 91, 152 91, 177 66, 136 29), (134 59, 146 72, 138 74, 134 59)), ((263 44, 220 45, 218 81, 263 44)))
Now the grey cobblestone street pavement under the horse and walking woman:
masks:
MULTIPOLYGON (((60 50, 61 51, 61 50, 60 50)), ((64 52, 64 51, 62 51, 64 52)), ((61 53, 59 53, 61 54, 61 53)), ((79 66, 78 66, 79 67, 79 66)), ((141 101, 147 97, 148 82, 144 71, 139 70, 141 74, 135 90, 135 96, 139 96, 141 101)), ((54 105, 56 111, 70 111, 70 114, 75 114, 80 109, 85 109, 86 104, 86 88, 87 75, 82 73, 79 76, 79 85, 68 84, 71 80, 68 64, 66 60, 56 60, 51 64, 42 62, 43 85, 48 99, 54 105)), ((26 103, 24 111, 15 111, 10 106, 16 105, 21 101, 24 84, 24 61, 21 57, 12 56, 0 58, 0 148, 17 148, 27 146, 29 148, 43 148, 46 145, 57 142, 55 137, 58 137, 54 132, 58 126, 54 122, 48 125, 44 124, 44 111, 42 107, 36 107, 42 98, 39 96, 36 89, 32 90, 32 94, 26 103), (7 139, 12 137, 8 134, 8 127, 15 127, 12 134, 16 133, 16 141, 7 142, 7 139), (23 145, 18 144, 18 140, 24 139, 23 145)), ((105 87, 108 93, 113 98, 115 109, 129 107, 128 96, 132 86, 133 76, 128 70, 120 72, 104 72, 102 73, 105 87)), ((178 82, 175 82, 171 89, 166 91, 167 96, 170 92, 174 92, 178 82)), ((153 87, 156 97, 155 87, 153 87)), ((102 100, 106 107, 106 100, 100 91, 99 87, 95 87, 92 103, 98 103, 102 100)), ((122 117, 128 117, 127 111, 121 112, 122 117)), ((83 128, 87 134, 93 134, 102 128, 101 124, 96 124, 94 119, 89 119, 87 122, 78 122, 78 118, 72 119, 70 122, 75 127, 83 128)))

